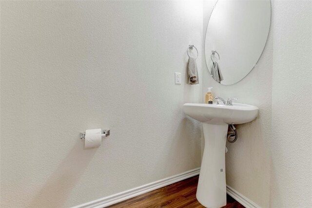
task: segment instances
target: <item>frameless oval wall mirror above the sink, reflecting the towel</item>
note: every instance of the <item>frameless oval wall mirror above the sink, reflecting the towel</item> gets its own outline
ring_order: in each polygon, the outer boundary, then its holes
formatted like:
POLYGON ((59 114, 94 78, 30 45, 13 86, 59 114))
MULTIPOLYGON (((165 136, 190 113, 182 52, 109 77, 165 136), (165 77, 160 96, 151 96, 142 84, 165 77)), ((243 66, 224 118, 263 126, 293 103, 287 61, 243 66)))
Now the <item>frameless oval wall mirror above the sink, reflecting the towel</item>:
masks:
POLYGON ((270 0, 216 2, 207 26, 205 57, 217 82, 231 85, 250 73, 265 47, 270 22, 270 0))

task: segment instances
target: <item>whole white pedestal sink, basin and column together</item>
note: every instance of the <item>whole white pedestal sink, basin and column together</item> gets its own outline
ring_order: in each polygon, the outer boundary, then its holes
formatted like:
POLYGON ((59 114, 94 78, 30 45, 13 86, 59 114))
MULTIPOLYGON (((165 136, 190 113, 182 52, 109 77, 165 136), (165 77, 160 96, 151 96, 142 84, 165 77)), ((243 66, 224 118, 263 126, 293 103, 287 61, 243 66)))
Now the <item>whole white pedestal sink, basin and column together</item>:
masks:
POLYGON ((185 103, 183 111, 201 121, 205 147, 196 198, 207 208, 226 205, 225 143, 229 124, 242 124, 254 120, 258 108, 252 105, 233 103, 230 105, 185 103))

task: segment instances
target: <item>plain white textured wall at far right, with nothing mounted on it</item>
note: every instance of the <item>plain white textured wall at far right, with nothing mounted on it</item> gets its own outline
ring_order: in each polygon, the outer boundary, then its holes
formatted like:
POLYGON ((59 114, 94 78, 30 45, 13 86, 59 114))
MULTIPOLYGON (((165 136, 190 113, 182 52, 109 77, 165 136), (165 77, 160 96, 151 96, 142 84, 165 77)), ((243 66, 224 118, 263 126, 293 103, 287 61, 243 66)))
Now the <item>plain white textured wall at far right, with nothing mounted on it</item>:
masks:
POLYGON ((273 14, 271 207, 311 208, 312 1, 274 1, 273 14))

